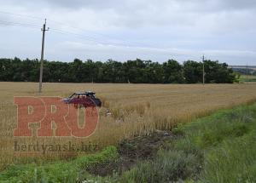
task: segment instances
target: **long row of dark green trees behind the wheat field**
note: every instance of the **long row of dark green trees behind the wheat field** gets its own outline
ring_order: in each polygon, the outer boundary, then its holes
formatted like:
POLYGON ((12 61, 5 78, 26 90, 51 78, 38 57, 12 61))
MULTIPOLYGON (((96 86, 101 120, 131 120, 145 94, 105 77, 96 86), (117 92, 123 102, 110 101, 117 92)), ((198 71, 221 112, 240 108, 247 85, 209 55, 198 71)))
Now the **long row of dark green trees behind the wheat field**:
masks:
MULTIPOLYGON (((39 60, 0 59, 0 81, 38 82, 39 60)), ((205 83, 234 83, 236 73, 225 63, 205 60, 205 83)), ((61 83, 202 83, 202 62, 188 60, 162 64, 151 60, 106 62, 75 59, 44 61, 44 82, 61 83)))

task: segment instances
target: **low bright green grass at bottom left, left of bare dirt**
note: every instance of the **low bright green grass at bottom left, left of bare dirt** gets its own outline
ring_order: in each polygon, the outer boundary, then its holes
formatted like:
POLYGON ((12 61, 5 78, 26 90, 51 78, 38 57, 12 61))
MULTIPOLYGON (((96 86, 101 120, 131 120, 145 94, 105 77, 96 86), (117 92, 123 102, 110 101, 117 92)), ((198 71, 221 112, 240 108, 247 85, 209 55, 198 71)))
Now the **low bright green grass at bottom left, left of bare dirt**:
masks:
POLYGON ((84 169, 97 163, 113 161, 118 157, 116 147, 108 146, 102 152, 77 157, 71 161, 54 163, 35 163, 11 165, 0 173, 1 183, 65 183, 79 182, 79 180, 95 178, 87 174, 84 169))

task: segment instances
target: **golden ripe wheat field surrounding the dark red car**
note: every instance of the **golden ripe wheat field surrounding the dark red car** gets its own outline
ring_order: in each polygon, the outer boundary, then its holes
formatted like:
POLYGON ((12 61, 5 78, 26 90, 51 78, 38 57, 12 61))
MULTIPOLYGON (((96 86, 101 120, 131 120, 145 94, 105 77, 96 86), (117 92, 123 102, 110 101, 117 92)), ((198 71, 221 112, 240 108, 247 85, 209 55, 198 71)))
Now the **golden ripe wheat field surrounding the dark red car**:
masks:
MULTIPOLYGON (((96 132, 89 138, 18 138, 14 96, 39 96, 38 83, 0 83, 0 168, 10 163, 51 160, 67 156, 48 152, 40 158, 20 157, 14 153, 14 141, 20 143, 61 144, 81 141, 100 148, 116 145, 134 135, 154 129, 172 129, 177 123, 188 123, 218 109, 230 108, 256 100, 256 83, 244 84, 112 84, 112 83, 44 83, 42 96, 67 97, 73 92, 91 90, 103 101, 96 132), (107 110, 111 115, 106 115, 107 110)), ((34 125, 36 126, 36 125, 34 125)), ((31 126, 31 128, 36 128, 31 126)))

